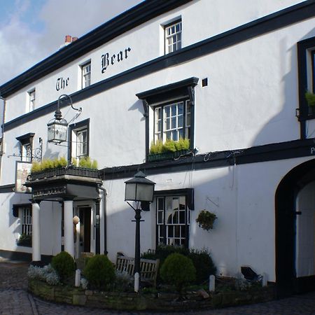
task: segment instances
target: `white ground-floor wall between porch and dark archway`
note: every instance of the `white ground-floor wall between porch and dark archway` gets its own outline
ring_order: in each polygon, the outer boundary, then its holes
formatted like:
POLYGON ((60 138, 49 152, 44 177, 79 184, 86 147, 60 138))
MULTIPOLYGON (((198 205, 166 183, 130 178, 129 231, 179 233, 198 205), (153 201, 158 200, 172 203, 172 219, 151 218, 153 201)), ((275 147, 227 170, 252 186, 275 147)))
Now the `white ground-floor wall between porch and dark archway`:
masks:
MULTIPOLYGON (((265 272, 268 281, 275 281, 276 188, 290 169, 306 160, 309 158, 159 174, 148 179, 155 181, 155 190, 194 188, 190 248, 207 248, 218 274, 236 276, 242 265, 249 265, 258 274, 265 272), (210 232, 195 222, 202 209, 218 216, 210 232)), ((125 181, 104 182, 108 191, 108 251, 113 261, 118 251, 134 255, 134 211, 124 202, 125 181)), ((141 222, 144 252, 155 248, 155 203, 150 212, 141 215, 145 220, 141 222)))

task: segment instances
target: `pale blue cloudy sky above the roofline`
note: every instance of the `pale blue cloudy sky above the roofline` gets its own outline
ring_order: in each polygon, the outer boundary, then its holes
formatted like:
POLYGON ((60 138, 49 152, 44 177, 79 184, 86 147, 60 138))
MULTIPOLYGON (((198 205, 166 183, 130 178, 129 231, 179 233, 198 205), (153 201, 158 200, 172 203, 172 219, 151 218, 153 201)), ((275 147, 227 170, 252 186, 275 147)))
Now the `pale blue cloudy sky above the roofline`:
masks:
POLYGON ((142 0, 0 0, 0 85, 142 0))

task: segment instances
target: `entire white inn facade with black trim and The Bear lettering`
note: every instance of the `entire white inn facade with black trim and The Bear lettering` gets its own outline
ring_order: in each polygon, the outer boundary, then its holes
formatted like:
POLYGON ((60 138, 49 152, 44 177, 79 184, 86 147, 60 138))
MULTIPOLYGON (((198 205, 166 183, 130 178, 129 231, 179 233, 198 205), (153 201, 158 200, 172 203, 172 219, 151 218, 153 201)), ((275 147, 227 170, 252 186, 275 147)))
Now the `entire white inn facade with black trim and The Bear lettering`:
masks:
POLYGON ((17 239, 35 228, 39 260, 71 244, 73 255, 133 256, 125 181, 141 170, 156 183, 141 252, 207 248, 218 274, 249 265, 281 292, 315 286, 315 113, 304 97, 315 92, 315 1, 241 4, 144 1, 0 87, 0 255, 34 260, 34 243, 17 239), (47 141, 62 94, 82 109, 61 105, 63 146, 47 141), (186 153, 152 158, 154 141, 180 137, 186 153), (61 156, 97 160, 102 181, 93 197, 45 197, 37 209, 15 190, 17 161, 61 156), (218 217, 210 232, 195 221, 202 209, 218 217), (80 237, 69 245, 72 216, 80 237))

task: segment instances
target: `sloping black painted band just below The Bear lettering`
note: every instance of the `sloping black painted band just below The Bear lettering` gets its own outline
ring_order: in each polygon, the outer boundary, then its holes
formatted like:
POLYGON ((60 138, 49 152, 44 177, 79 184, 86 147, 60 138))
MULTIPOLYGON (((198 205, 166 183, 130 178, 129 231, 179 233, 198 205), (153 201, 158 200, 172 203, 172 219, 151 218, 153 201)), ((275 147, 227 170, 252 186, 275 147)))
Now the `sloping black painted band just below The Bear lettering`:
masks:
MULTIPOLYGON (((173 0, 169 1, 173 2, 173 0)), ((107 78, 98 83, 94 83, 93 85, 90 85, 83 90, 79 90, 71 94, 72 102, 74 104, 76 102, 92 97, 94 94, 99 94, 118 85, 128 83, 130 80, 135 80, 156 71, 167 69, 169 67, 182 64, 183 62, 188 62, 191 59, 197 59, 198 57, 202 57, 204 55, 211 54, 212 52, 228 48, 232 45, 236 45, 237 43, 248 41, 251 38, 255 38, 255 36, 266 34, 270 31, 286 27, 287 25, 291 25, 295 22, 300 22, 314 16, 315 0, 308 0, 302 3, 298 3, 297 5, 291 6, 290 8, 272 13, 265 16, 264 18, 246 23, 245 25, 241 25, 240 27, 236 27, 235 29, 231 29, 230 31, 225 31, 222 34, 218 34, 199 43, 195 43, 186 48, 182 48, 181 50, 177 50, 176 52, 171 52, 167 55, 158 57, 139 66, 135 66, 134 68, 119 73, 116 76, 112 76, 111 78, 107 78)), ((78 41, 71 43, 71 45, 76 44, 78 41)), ((71 45, 69 45, 69 47, 71 45)), ((50 72, 51 71, 48 71, 48 73, 50 72)), ((3 93, 3 87, 5 86, 6 85, 2 85, 2 87, 0 87, 0 94, 3 93)), ((5 130, 11 130, 24 123, 29 123, 38 117, 44 116, 48 113, 52 113, 52 111, 55 111, 56 106, 57 101, 51 102, 50 104, 42 106, 39 109, 35 109, 31 113, 27 113, 23 116, 15 118, 14 120, 11 120, 10 122, 4 124, 5 130)))

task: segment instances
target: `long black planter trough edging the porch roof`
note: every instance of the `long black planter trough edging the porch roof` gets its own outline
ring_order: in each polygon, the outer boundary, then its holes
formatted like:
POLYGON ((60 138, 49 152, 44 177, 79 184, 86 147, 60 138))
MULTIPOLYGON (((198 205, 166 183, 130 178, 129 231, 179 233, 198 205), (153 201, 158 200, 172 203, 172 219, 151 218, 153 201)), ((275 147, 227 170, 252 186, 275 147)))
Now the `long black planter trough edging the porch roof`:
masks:
POLYGON ((84 176, 94 179, 99 179, 98 169, 86 169, 84 167, 58 167, 53 169, 44 169, 41 172, 31 172, 28 176, 28 181, 36 181, 37 179, 49 179, 55 176, 73 175, 84 176))

